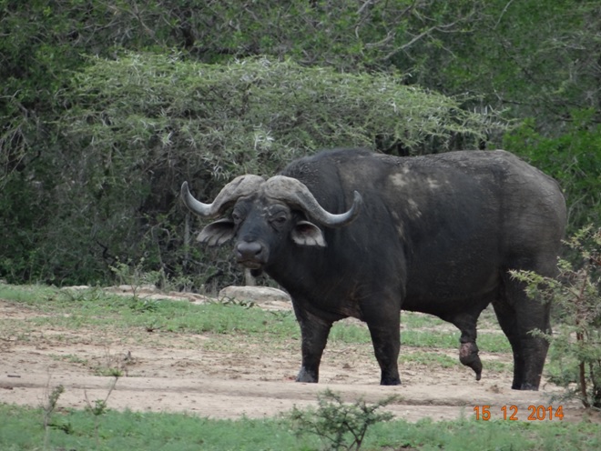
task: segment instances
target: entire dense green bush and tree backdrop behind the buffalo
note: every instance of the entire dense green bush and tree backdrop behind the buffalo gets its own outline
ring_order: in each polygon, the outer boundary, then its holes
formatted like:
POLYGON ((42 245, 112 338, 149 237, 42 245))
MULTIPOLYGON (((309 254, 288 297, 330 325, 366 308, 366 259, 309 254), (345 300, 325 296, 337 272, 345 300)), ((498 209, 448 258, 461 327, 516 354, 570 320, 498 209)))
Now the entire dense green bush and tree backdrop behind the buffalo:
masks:
POLYGON ((0 0, 0 277, 236 281, 178 202, 320 148, 496 148, 601 223, 596 0, 0 0))

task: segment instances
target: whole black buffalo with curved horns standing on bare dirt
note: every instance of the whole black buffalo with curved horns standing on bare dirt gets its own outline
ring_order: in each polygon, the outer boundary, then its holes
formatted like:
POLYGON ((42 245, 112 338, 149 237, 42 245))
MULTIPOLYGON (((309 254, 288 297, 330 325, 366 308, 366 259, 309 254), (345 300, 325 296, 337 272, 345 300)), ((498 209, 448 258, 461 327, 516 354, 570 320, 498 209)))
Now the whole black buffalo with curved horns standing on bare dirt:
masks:
POLYGON ((292 298, 301 326, 300 382, 317 382, 332 323, 367 323, 382 385, 401 383, 400 310, 461 330, 460 360, 480 379, 476 321, 491 302, 514 352, 513 388, 536 390, 548 344, 548 304, 529 300, 510 269, 553 276, 565 229, 555 180, 507 152, 394 157, 332 150, 268 180, 241 175, 212 204, 184 182, 206 226, 199 241, 235 238, 238 261, 264 270, 292 298))

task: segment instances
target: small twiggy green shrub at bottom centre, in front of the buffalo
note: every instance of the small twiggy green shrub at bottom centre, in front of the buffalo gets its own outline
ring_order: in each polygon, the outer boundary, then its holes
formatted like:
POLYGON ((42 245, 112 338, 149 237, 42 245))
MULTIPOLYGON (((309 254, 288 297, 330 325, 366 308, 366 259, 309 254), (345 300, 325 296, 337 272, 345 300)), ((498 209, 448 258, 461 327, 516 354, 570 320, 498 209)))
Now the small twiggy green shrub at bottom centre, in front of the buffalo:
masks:
POLYGON ((319 436, 328 444, 327 449, 358 450, 370 426, 392 419, 390 412, 376 411, 398 400, 398 396, 389 396, 372 405, 362 399, 350 404, 328 389, 318 394, 317 399, 317 409, 303 411, 295 406, 290 412, 297 434, 319 436))

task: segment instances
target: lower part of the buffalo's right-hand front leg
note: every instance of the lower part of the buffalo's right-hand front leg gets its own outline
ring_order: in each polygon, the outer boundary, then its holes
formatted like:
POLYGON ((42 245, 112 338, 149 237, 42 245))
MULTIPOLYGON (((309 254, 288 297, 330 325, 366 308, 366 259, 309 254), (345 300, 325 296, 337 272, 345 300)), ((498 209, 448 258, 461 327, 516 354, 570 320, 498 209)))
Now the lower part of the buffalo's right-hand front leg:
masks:
MULTIPOLYGON (((392 321, 394 323, 394 321, 392 321)), ((381 386, 398 386, 401 384, 399 376, 399 351, 401 349, 400 321, 396 326, 367 325, 372 336, 373 351, 381 370, 381 386)))

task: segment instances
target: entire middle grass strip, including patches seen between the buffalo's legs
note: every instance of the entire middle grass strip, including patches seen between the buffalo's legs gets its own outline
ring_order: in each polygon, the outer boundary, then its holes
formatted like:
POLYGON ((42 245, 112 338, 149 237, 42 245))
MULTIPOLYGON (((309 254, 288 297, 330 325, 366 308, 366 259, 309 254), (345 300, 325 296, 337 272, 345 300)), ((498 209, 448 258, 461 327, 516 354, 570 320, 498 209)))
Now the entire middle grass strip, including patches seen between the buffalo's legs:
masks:
MULTIPOLYGON (((0 284, 0 298, 31 309, 26 320, 0 321, 0 330, 12 330, 19 339, 43 327, 75 330, 82 327, 139 333, 217 334, 254 336, 282 342, 300 339, 299 326, 291 312, 265 312, 260 308, 236 304, 194 305, 185 301, 156 301, 134 296, 110 295, 102 290, 58 290, 47 286, 6 286, 0 284)), ((485 319, 484 321, 489 321, 485 319)), ((486 323, 488 326, 488 323, 486 323)), ((452 348, 460 333, 435 316, 402 313, 402 346, 452 348)), ((332 343, 371 343, 366 326, 336 323, 331 329, 332 343)), ((482 333, 478 346, 484 352, 511 352, 501 333, 482 333)))

